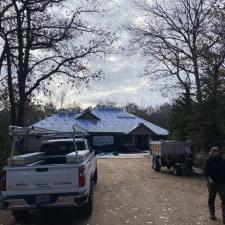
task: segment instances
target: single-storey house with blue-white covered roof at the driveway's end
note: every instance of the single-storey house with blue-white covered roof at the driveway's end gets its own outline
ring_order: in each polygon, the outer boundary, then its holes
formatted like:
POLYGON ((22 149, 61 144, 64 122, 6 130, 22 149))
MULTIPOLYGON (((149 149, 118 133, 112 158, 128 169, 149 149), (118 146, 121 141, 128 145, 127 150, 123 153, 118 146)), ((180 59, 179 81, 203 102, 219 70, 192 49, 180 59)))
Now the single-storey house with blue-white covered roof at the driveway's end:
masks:
POLYGON ((150 140, 165 139, 168 131, 134 116, 124 109, 101 107, 80 114, 61 112, 32 125, 52 131, 89 133, 94 149, 130 150, 148 149, 150 140))

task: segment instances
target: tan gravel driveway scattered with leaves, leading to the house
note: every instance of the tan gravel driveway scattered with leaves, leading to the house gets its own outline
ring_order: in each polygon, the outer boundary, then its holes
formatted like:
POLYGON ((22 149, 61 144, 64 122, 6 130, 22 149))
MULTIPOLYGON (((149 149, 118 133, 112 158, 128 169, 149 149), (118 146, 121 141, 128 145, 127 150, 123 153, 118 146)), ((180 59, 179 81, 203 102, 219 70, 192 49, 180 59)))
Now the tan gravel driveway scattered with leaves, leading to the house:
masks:
MULTIPOLYGON (((208 219, 205 179, 175 177, 167 169, 156 173, 150 159, 99 159, 94 188, 94 212, 80 218, 72 209, 34 211, 27 225, 222 224, 217 198, 217 222, 208 219)), ((0 225, 16 223, 0 210, 0 225)))

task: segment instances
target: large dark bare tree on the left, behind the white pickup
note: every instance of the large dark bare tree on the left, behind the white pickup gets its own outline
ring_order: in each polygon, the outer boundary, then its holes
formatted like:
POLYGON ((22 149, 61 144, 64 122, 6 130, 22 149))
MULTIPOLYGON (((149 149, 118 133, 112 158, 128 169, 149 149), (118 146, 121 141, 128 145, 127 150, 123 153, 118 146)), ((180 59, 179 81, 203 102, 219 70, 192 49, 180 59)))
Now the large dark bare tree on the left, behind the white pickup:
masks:
POLYGON ((0 1, 0 81, 7 87, 13 124, 23 125, 27 99, 51 82, 76 88, 101 71, 89 68, 94 56, 111 51, 113 35, 91 25, 97 0, 0 1), (72 7, 72 6, 71 6, 72 7))

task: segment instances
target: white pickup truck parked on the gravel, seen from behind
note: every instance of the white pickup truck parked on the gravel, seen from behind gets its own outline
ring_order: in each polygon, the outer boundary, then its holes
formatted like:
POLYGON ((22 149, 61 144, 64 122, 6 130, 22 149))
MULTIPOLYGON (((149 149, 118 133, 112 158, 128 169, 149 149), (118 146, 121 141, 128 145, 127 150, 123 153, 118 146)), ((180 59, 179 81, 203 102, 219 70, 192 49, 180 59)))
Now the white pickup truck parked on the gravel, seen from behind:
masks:
POLYGON ((2 209, 23 220, 30 209, 75 207, 92 214, 97 160, 85 138, 43 142, 40 152, 13 156, 1 180, 2 209))

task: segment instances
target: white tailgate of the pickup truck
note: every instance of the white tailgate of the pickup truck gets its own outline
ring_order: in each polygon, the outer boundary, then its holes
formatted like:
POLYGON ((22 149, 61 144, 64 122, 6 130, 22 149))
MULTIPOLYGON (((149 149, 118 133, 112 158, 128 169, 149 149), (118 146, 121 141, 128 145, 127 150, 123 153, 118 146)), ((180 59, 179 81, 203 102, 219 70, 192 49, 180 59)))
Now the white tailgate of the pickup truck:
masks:
POLYGON ((6 194, 74 193, 79 189, 79 168, 69 165, 6 169, 6 194))

